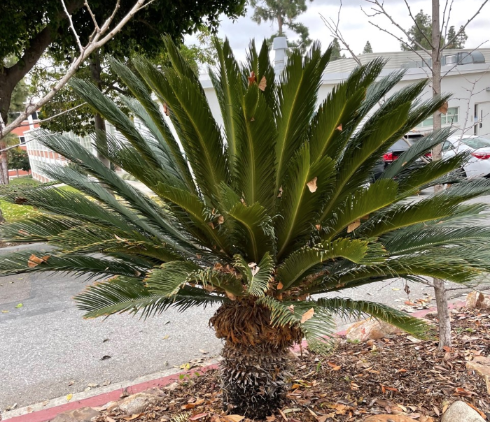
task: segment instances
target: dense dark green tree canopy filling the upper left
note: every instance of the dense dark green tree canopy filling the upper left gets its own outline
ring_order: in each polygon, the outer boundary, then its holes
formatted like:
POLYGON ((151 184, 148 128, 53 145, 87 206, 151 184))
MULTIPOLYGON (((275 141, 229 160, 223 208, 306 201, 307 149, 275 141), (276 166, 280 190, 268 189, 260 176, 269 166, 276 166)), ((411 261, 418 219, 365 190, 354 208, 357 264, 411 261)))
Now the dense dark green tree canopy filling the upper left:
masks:
MULTIPOLYGON (((85 44, 94 30, 92 17, 82 0, 65 1, 73 14, 73 24, 85 44)), ((90 8, 99 22, 113 11, 112 0, 90 0, 90 8)), ((134 0, 121 0, 116 22, 134 6, 134 0)), ((167 33, 174 38, 190 34, 203 24, 216 29, 219 16, 237 17, 244 10, 244 0, 190 1, 183 0, 176 7, 172 1, 155 0, 139 10, 111 43, 104 46, 102 55, 128 57, 130 52, 151 54, 162 45, 160 36, 167 33)), ((18 63, 0 68, 0 99, 10 96, 15 85, 47 52, 59 62, 69 63, 78 54, 75 39, 59 0, 2 0, 0 3, 0 63, 11 55, 18 63)), ((6 120, 8 105, 0 101, 0 112, 6 120)))

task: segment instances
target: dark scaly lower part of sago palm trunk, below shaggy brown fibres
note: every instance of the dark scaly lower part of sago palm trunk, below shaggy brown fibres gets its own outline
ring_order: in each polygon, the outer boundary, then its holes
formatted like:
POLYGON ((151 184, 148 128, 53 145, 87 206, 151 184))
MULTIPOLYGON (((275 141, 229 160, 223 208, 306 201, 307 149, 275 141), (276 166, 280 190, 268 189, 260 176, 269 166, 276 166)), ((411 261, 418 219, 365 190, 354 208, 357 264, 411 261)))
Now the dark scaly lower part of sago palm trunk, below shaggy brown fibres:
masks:
POLYGON ((221 362, 223 407, 232 414, 264 419, 283 405, 288 349, 226 344, 221 362))

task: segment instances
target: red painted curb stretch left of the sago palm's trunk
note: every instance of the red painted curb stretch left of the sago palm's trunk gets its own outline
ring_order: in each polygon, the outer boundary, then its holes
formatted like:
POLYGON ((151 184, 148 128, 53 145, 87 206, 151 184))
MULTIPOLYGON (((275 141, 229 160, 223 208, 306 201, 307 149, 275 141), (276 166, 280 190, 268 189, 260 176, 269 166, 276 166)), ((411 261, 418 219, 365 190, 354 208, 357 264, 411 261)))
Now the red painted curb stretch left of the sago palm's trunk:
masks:
MULTIPOLYGON (((209 366, 204 366, 197 371, 193 370, 187 373, 194 374, 195 372, 206 372, 207 370, 216 369, 216 368, 218 368, 218 365, 213 364, 209 366)), ((126 389, 128 393, 135 394, 135 393, 140 393, 141 391, 148 390, 148 388, 152 388, 152 387, 165 387, 168 386, 169 384, 172 384, 172 382, 177 381, 181 373, 168 375, 167 377, 153 379, 151 381, 141 382, 140 384, 129 386, 126 389)), ((73 409, 80 409, 80 407, 102 406, 105 405, 107 402, 119 400, 121 393, 123 393, 123 388, 118 388, 117 390, 109 391, 109 393, 102 393, 99 395, 94 395, 93 397, 85 398, 83 400, 68 402, 65 405, 50 407, 49 409, 38 410, 37 412, 32 412, 25 415, 14 416, 13 418, 10 419, 4 419, 4 421, 8 421, 8 422, 50 421, 51 419, 55 418, 57 414, 60 414, 62 412, 66 412, 73 409)))

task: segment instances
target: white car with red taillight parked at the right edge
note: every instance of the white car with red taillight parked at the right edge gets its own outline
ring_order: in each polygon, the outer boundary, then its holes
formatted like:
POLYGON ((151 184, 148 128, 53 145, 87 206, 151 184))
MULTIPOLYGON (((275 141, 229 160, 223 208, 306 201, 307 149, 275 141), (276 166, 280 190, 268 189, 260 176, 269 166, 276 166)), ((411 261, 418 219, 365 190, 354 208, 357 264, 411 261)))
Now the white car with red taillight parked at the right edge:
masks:
POLYGON ((490 176, 490 139, 482 136, 451 136, 442 144, 442 158, 456 152, 469 151, 471 156, 463 166, 467 177, 490 176))

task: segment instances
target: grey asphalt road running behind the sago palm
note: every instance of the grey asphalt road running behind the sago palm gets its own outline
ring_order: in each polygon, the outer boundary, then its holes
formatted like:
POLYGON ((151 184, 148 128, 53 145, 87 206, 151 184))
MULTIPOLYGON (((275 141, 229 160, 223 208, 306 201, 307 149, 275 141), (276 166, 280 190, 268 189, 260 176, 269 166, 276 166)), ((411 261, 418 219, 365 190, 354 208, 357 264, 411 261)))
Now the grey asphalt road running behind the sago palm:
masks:
MULTIPOLYGON (((71 298, 85 284, 57 273, 0 278, 0 410, 167 370, 202 350, 219 354, 221 342, 208 327, 213 309, 169 310, 146 321, 128 315, 84 320, 71 298)), ((421 284, 409 286, 412 299, 432 294, 421 284)), ((342 296, 399 306, 407 298, 403 287, 400 280, 379 282, 342 296)))

